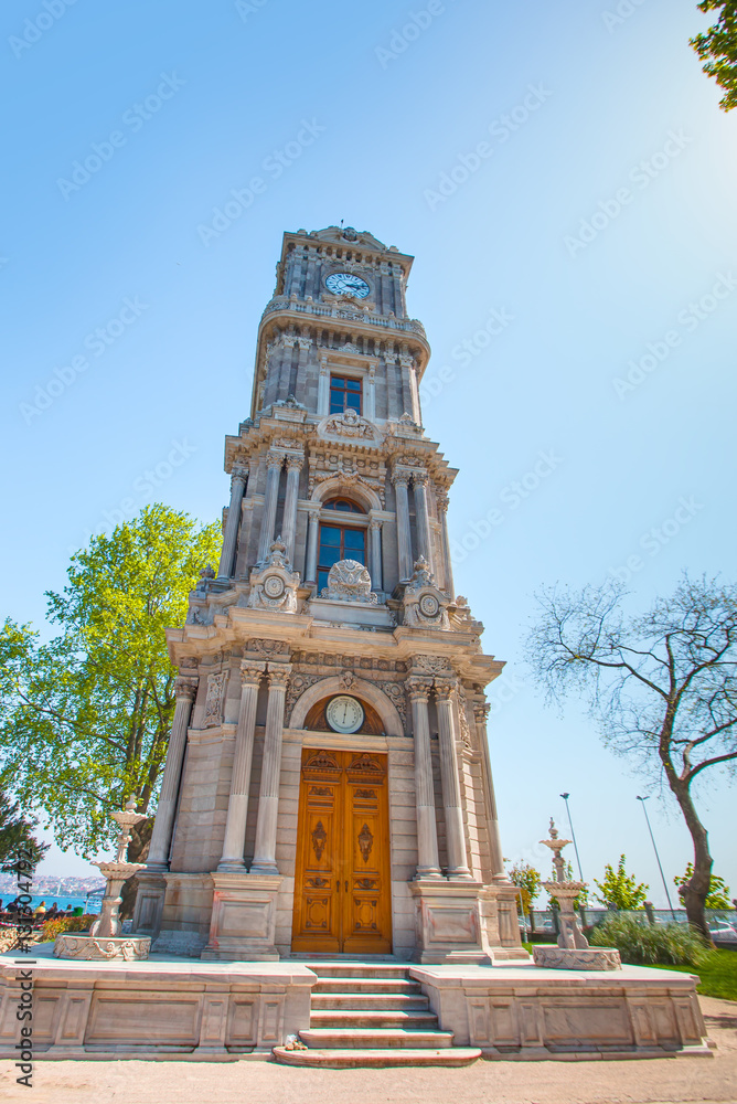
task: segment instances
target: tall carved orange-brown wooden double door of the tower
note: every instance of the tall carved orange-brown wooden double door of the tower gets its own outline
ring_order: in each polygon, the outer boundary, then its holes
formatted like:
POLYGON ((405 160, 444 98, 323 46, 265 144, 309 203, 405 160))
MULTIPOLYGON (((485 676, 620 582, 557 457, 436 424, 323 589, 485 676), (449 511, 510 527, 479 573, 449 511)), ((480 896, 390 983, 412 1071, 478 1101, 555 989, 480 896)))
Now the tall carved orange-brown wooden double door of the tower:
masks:
POLYGON ((302 752, 292 953, 392 949, 386 755, 302 752))

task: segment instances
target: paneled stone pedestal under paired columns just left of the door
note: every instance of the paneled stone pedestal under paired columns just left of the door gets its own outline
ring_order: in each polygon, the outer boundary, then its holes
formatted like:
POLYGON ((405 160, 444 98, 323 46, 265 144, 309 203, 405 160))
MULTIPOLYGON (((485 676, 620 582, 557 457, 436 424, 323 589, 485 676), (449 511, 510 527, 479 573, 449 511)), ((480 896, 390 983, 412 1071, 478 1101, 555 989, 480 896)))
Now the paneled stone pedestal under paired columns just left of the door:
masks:
POLYGON ((282 878, 216 870, 205 960, 278 962, 274 945, 276 899, 282 878))

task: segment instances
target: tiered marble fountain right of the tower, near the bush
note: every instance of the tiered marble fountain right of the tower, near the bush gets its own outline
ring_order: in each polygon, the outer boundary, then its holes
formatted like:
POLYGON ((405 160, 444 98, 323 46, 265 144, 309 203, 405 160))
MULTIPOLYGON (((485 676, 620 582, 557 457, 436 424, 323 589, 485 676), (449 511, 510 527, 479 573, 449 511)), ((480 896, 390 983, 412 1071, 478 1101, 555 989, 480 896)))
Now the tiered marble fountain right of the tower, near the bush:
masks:
POLYGON ((621 969, 619 951, 613 947, 590 947, 578 926, 574 901, 586 889, 587 883, 566 880, 565 859, 560 852, 570 840, 558 839, 558 831, 552 817, 549 832, 549 839, 541 839, 541 843, 553 851, 555 878, 552 882, 543 882, 543 888, 558 902, 560 933, 556 947, 549 944, 536 944, 533 947, 535 966, 548 969, 621 969))

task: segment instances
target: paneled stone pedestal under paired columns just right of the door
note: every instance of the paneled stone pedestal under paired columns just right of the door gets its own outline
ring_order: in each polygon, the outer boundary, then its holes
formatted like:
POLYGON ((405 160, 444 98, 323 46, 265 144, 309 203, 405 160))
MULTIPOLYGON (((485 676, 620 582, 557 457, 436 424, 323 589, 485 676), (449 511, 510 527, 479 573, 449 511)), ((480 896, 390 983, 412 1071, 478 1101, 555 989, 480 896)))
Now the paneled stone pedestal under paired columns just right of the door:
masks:
POLYGON ((417 906, 415 962, 490 966, 481 927, 480 882, 417 879, 409 883, 417 906))

